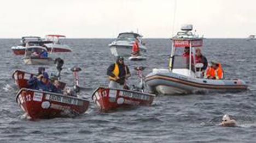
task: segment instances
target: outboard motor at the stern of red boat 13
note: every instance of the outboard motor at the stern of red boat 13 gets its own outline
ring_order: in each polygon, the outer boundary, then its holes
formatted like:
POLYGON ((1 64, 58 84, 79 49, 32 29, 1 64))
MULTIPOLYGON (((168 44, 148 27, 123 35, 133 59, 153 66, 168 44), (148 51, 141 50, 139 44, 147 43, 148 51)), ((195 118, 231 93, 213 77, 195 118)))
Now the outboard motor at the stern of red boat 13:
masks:
POLYGON ((137 74, 138 74, 138 78, 139 78, 139 84, 136 86, 136 85, 132 85, 132 90, 133 91, 139 91, 139 92, 144 92, 144 89, 145 89, 145 82, 143 80, 143 74, 142 74, 142 71, 144 69, 146 69, 146 67, 143 67, 143 66, 138 66, 138 67, 135 67, 134 68, 136 71, 137 71, 137 74))

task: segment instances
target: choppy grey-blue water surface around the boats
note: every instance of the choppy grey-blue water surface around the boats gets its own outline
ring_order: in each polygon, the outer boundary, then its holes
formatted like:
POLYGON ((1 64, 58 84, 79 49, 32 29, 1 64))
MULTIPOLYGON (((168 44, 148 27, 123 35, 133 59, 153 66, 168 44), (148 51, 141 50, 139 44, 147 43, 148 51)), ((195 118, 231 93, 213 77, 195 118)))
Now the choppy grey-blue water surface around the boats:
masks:
MULTIPOLYGON (((78 65, 80 84, 90 94, 98 85, 107 85, 106 69, 114 62, 108 43, 112 39, 68 39, 72 53, 55 54, 65 60, 63 81, 73 85, 68 68, 78 65)), ((147 66, 145 74, 153 68, 167 67, 171 51, 168 39, 146 39, 148 60, 131 62, 137 82, 136 65, 147 66)), ((248 91, 239 93, 187 96, 158 96, 151 107, 121 109, 100 113, 91 102, 82 116, 51 120, 28 121, 15 101, 18 90, 11 79, 15 69, 37 72, 38 66, 25 66, 22 56, 15 56, 10 47, 19 39, 1 39, 0 73, 0 142, 255 142, 256 139, 256 40, 206 39, 208 60, 218 59, 226 78, 241 78, 249 84, 248 91), (232 115, 238 127, 216 126, 224 114, 232 115)), ((56 72, 55 67, 47 69, 56 72)))

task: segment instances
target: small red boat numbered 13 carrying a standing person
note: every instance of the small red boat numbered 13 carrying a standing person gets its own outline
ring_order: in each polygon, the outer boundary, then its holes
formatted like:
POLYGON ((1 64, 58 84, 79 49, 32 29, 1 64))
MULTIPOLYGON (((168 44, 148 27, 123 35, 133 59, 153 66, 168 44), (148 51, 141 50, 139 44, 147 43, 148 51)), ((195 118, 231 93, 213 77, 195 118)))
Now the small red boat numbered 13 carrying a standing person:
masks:
POLYGON ((92 100, 102 111, 109 111, 127 105, 151 105, 155 95, 143 92, 98 87, 92 93, 92 100))

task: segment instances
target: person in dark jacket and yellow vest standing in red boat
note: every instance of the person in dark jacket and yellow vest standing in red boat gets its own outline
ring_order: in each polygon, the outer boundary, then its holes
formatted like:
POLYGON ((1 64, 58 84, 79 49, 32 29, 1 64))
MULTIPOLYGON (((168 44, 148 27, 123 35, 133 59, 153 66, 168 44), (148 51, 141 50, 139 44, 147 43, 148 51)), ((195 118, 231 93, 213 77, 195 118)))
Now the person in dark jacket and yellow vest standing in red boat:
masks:
POLYGON ((124 64, 124 58, 118 57, 114 64, 111 64, 107 69, 109 76, 109 88, 129 89, 126 85, 126 79, 131 76, 129 67, 124 64))

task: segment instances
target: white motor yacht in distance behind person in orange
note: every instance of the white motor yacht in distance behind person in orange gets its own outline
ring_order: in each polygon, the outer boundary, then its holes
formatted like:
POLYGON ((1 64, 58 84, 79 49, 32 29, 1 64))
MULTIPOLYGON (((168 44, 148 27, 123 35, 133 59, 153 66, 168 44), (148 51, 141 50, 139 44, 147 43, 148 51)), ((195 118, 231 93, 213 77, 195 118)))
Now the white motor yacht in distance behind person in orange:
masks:
POLYGON ((132 45, 136 38, 139 40, 139 50, 141 54, 145 55, 147 47, 145 43, 142 42, 142 35, 133 32, 120 33, 118 38, 108 45, 111 54, 114 56, 130 56, 132 45))

